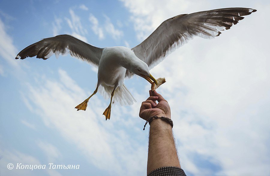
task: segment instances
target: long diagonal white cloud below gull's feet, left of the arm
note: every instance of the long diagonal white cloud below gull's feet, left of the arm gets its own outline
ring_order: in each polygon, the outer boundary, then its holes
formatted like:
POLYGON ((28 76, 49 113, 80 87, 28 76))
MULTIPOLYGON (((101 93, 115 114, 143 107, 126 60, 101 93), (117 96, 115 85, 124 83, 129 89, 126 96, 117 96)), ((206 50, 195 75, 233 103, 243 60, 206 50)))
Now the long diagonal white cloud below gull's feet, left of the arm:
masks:
MULTIPOLYGON (((28 87, 29 101, 37 106, 37 115, 42 117, 45 125, 56 128, 64 139, 76 145, 89 162, 99 169, 117 175, 145 174, 147 144, 139 145, 135 139, 141 136, 129 135, 124 129, 116 128, 119 125, 130 128, 135 123, 132 118, 125 122, 122 120, 126 116, 124 114, 130 112, 124 107, 113 106, 114 119, 105 121, 102 113, 108 102, 105 103, 103 98, 101 101, 98 95, 89 100, 86 111, 76 111, 74 107, 88 95, 64 70, 60 69, 58 73, 59 80, 38 78, 37 85, 29 84, 28 87), (127 123, 127 126, 123 126, 123 123, 127 123)), ((93 84, 93 90, 94 87, 93 84)))

